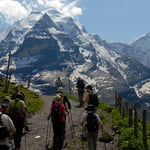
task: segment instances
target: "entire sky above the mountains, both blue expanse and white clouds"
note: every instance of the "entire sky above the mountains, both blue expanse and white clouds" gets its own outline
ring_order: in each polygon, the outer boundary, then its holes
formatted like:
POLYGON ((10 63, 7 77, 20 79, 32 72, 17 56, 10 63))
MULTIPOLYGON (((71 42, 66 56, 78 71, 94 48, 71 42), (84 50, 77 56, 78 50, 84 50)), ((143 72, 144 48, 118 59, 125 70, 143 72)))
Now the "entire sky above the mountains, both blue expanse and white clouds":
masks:
POLYGON ((51 5, 107 42, 131 42, 150 32, 150 0, 0 0, 0 28, 51 5))

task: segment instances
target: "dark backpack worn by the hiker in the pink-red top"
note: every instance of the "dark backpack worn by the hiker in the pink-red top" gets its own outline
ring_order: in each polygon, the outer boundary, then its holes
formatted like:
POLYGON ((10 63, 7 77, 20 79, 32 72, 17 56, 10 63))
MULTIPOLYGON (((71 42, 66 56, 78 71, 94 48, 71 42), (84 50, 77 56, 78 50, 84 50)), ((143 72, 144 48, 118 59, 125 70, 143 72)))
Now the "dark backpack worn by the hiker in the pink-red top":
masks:
POLYGON ((52 121, 59 122, 62 118, 62 112, 60 111, 61 104, 53 104, 52 108, 52 121))

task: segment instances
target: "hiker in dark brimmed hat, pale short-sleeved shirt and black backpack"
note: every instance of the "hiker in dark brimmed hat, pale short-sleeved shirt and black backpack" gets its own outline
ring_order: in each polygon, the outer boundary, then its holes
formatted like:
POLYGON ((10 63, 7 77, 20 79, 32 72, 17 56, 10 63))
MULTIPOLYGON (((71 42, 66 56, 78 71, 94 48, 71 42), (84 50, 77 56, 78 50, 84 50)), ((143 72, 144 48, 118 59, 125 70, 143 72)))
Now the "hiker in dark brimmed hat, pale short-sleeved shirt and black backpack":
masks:
POLYGON ((86 112, 83 112, 81 118, 81 125, 88 142, 88 150, 96 150, 98 130, 99 127, 103 127, 103 124, 96 113, 96 107, 94 105, 88 105, 85 107, 86 112))

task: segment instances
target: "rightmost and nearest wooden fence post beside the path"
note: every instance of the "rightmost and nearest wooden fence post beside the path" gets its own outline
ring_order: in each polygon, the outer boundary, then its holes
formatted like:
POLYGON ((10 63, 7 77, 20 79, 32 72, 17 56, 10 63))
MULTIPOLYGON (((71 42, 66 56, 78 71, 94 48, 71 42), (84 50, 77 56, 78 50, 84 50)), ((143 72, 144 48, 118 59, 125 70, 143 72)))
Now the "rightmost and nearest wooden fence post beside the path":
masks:
POLYGON ((146 117, 147 117, 146 110, 143 110, 143 121, 142 121, 142 124, 143 124, 143 145, 145 147, 145 150, 148 150, 148 147, 147 147, 146 117))

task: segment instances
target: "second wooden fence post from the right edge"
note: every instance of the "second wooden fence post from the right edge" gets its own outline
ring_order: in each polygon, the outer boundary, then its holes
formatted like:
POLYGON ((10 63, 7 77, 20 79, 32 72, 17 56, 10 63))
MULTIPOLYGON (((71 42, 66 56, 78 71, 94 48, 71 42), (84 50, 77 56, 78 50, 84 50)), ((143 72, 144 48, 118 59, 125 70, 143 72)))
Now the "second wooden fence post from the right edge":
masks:
POLYGON ((138 112, 137 103, 134 104, 134 135, 138 137, 138 112))

